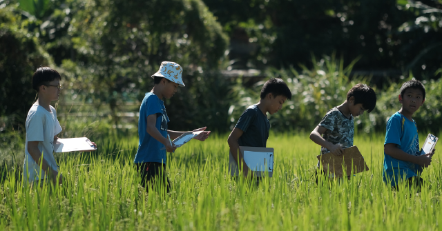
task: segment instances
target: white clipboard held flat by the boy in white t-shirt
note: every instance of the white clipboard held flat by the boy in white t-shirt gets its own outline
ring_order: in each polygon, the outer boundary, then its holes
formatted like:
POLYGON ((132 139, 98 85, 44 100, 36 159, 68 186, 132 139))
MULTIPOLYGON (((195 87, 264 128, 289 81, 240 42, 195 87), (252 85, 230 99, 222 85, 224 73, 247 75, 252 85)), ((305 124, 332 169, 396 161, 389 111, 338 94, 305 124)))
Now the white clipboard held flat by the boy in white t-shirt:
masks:
POLYGON ((92 152, 97 150, 87 137, 57 139, 54 152, 92 152))

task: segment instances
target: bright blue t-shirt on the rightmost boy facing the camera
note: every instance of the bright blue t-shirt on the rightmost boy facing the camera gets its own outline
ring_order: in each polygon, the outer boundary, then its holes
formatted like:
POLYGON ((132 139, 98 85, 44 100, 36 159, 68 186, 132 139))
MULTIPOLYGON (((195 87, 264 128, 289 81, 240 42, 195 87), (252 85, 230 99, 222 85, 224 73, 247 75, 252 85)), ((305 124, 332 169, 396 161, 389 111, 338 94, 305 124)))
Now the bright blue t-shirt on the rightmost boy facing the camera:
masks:
MULTIPOLYGON (((387 122, 387 133, 385 144, 394 143, 408 154, 419 156, 419 136, 416 122, 405 118, 401 113, 396 112, 387 122)), ((401 161, 390 157, 384 152, 383 180, 395 186, 399 179, 404 180, 414 177, 422 172, 421 166, 408 161, 401 161), (394 179, 394 180, 393 180, 394 179)))

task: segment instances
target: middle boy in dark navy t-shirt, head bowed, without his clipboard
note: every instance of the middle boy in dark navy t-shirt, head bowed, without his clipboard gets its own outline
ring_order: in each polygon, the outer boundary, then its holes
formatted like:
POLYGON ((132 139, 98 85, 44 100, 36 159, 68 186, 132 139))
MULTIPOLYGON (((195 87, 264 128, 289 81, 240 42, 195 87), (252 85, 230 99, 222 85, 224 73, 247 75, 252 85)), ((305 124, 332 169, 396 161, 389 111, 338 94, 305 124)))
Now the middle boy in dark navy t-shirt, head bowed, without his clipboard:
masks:
POLYGON ((262 86, 260 98, 258 103, 242 112, 238 123, 227 139, 230 146, 229 159, 233 159, 229 164, 231 175, 238 175, 239 170, 242 169, 244 176, 247 177, 249 167, 242 159, 242 155, 238 154, 240 146, 266 147, 270 130, 267 112, 269 114, 278 112, 282 108, 282 103, 291 99, 291 92, 282 79, 269 79, 262 86))

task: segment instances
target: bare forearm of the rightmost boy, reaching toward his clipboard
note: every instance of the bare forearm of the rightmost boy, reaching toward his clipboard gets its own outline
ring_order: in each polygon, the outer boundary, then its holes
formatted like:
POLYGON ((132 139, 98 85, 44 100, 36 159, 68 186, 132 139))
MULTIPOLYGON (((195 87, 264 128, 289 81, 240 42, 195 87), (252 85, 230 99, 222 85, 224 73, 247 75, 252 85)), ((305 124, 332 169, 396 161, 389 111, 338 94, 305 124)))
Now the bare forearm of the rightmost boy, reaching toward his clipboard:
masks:
POLYGON ((394 159, 416 163, 418 165, 421 165, 423 168, 427 168, 431 164, 431 159, 434 154, 433 150, 432 153, 427 153, 420 156, 413 156, 412 154, 408 154, 400 148, 397 148, 396 143, 386 143, 384 145, 384 152, 394 159))

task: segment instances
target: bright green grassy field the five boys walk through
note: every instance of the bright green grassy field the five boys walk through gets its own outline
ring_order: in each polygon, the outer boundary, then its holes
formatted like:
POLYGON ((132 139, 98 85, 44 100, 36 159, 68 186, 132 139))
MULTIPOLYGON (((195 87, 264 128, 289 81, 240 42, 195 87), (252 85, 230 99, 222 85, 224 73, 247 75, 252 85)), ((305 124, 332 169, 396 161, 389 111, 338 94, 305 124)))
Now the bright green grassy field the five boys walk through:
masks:
POLYGON ((168 154, 166 196, 138 185, 128 137, 57 154, 61 187, 23 185, 19 166, 4 173, 0 230, 441 230, 440 152, 423 175, 430 189, 395 192, 382 181, 383 134, 355 137, 368 172, 325 186, 312 178, 319 148, 306 134, 271 134, 275 171, 258 188, 229 177, 227 136, 213 134, 168 154))

